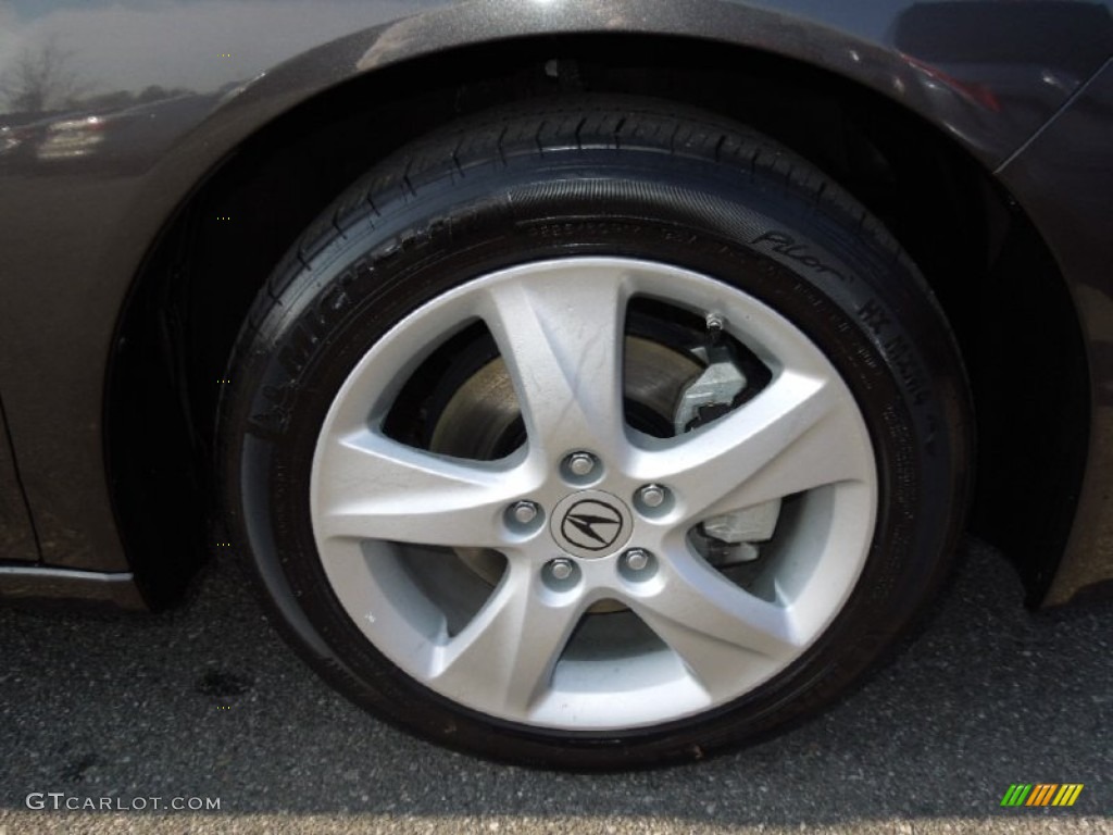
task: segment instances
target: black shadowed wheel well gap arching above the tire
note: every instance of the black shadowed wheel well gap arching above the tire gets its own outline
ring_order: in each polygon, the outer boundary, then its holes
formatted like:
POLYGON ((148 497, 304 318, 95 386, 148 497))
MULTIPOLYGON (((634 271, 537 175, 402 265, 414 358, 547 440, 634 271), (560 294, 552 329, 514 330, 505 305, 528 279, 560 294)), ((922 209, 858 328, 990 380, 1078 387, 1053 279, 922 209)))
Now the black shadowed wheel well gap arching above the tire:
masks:
POLYGON ((1030 599, 1041 598, 1085 460, 1086 363, 1062 276, 1014 202, 942 131, 845 79, 702 41, 580 36, 440 53, 327 90, 262 128, 179 207, 136 277, 106 399, 117 515, 151 603, 173 600, 223 539, 210 499, 220 381, 252 299, 301 232, 410 139, 486 107, 579 90, 748 124, 889 227, 966 358, 981 450, 974 527, 1011 549, 1030 599), (1011 536, 1017 515, 1023 538, 1011 536))

